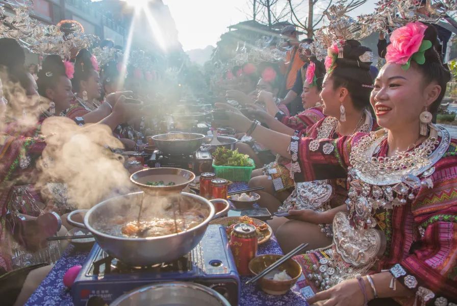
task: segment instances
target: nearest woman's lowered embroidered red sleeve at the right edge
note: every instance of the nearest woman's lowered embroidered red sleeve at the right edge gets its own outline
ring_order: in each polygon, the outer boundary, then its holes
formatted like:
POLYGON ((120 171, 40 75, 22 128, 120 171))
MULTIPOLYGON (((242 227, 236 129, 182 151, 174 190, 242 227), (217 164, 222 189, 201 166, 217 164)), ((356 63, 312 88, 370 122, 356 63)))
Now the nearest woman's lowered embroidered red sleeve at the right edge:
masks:
POLYGON ((435 167, 411 208, 419 241, 391 273, 422 303, 447 305, 457 301, 457 157, 435 167))

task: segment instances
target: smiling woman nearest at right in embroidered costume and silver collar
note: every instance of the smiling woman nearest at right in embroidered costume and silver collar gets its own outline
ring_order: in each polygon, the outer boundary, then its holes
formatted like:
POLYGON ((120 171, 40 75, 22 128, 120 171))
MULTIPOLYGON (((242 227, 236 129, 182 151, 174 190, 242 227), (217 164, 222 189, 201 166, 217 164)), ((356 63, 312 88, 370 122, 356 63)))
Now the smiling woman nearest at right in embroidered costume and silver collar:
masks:
MULTIPOLYGON (((348 173, 347 211, 335 215, 333 244, 295 257, 310 303, 457 302, 457 143, 431 124, 450 72, 434 27, 409 23, 391 42, 370 98, 383 130, 321 139, 316 151, 312 138, 275 141, 291 156, 297 182, 348 173)), ((257 139, 269 138, 256 130, 257 139)))

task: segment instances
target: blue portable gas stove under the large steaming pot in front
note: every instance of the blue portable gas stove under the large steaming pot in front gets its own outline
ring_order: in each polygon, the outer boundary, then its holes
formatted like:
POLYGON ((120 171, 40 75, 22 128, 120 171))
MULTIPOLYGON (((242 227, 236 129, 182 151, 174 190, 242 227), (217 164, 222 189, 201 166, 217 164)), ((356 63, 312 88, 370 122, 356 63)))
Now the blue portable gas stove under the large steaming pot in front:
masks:
POLYGON ((171 281, 208 286, 238 305, 240 277, 223 226, 209 225, 200 243, 179 260, 150 267, 127 266, 95 244, 71 294, 75 306, 98 306, 135 288, 171 281))

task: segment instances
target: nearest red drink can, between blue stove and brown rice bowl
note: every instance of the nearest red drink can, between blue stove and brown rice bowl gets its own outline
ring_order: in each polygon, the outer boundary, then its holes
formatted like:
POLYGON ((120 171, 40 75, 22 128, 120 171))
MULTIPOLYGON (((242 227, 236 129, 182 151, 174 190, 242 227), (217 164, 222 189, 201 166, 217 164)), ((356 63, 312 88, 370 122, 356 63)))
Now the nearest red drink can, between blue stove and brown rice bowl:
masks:
POLYGON ((230 248, 240 275, 249 275, 249 262, 256 257, 256 226, 238 223, 233 227, 230 237, 230 248))

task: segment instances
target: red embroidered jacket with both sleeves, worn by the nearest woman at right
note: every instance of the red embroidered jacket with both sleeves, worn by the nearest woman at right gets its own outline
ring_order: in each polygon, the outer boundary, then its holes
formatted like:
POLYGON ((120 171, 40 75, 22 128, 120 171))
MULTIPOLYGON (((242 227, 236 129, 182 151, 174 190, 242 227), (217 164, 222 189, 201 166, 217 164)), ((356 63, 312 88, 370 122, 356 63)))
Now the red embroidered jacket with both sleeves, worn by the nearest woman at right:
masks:
MULTIPOLYGON (((322 139, 311 151, 312 138, 295 138, 292 149, 299 169, 296 182, 337 179, 347 175, 351 147, 365 134, 322 139), (327 154, 323 147, 333 145, 327 154)), ((387 155, 387 141, 380 144, 378 157, 387 155)), ((377 226, 387 238, 387 247, 375 271, 395 269, 397 280, 415 291, 424 302, 446 305, 457 300, 457 141, 435 164, 430 176, 433 188, 421 185, 414 199, 391 210, 377 211, 377 226)), ((421 180, 424 180, 423 178, 421 180)), ((426 184, 425 184, 426 185, 426 184)), ((415 297, 416 298, 416 297, 415 297)), ((412 300, 402 301, 412 304, 412 300)))

